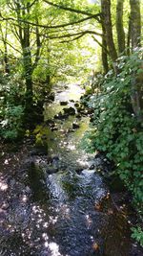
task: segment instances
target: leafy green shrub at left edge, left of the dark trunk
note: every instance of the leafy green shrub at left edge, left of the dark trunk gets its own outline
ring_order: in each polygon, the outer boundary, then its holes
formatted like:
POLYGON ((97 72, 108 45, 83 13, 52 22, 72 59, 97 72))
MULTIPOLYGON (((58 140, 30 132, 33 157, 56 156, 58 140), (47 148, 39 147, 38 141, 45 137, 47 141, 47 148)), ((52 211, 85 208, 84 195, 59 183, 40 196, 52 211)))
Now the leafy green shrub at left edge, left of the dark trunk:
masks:
POLYGON ((3 77, 0 87, 0 136, 5 139, 16 139, 22 132, 23 83, 19 76, 3 77))

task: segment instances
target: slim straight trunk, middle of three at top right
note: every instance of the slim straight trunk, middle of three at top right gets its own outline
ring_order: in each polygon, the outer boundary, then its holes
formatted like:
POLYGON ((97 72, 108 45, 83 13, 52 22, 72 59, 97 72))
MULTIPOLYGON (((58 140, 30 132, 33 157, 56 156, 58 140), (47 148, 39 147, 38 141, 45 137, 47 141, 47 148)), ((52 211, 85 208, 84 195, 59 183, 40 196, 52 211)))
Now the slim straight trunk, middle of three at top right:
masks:
POLYGON ((124 0, 117 0, 116 5, 116 33, 118 53, 122 54, 125 51, 125 32, 123 27, 123 5, 124 0))

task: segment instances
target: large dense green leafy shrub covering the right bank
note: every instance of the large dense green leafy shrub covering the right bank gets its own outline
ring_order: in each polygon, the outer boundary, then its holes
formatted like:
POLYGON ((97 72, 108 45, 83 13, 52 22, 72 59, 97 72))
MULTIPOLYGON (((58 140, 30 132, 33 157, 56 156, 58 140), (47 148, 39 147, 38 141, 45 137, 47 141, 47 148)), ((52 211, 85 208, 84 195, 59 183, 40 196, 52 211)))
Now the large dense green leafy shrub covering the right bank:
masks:
POLYGON ((91 97, 93 123, 83 142, 87 151, 104 151, 115 163, 115 171, 133 193, 138 209, 143 203, 143 131, 133 112, 132 83, 143 72, 141 58, 141 50, 130 58, 119 58, 119 75, 110 72, 102 91, 91 97))

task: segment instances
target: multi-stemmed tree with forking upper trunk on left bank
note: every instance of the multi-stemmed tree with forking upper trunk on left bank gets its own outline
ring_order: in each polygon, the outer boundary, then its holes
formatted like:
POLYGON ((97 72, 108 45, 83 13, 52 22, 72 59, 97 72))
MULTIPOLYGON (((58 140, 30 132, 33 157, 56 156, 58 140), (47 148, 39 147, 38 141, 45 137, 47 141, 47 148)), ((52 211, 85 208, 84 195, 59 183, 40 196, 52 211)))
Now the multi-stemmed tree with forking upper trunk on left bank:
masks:
MULTIPOLYGON (((39 35, 38 27, 35 28, 35 38, 36 38, 36 52, 35 58, 32 61, 31 58, 31 26, 27 21, 31 18, 31 8, 36 1, 32 3, 30 1, 12 1, 9 3, 10 9, 15 13, 17 24, 14 26, 15 34, 20 42, 23 55, 23 68, 24 68, 24 77, 26 80, 26 108, 32 106, 32 73, 37 66, 39 57, 40 57, 40 48, 41 40, 39 35)), ((35 17, 35 22, 38 24, 38 17, 35 17)))

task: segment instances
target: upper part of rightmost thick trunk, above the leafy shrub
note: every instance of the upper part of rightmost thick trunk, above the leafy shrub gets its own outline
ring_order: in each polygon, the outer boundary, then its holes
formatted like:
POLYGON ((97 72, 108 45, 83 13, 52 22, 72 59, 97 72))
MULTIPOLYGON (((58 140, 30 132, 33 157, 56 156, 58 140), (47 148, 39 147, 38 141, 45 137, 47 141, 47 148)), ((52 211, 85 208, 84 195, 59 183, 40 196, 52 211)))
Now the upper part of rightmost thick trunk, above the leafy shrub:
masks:
POLYGON ((140 46, 141 36, 141 15, 140 0, 130 0, 131 5, 131 39, 132 49, 140 46))

